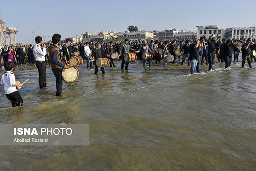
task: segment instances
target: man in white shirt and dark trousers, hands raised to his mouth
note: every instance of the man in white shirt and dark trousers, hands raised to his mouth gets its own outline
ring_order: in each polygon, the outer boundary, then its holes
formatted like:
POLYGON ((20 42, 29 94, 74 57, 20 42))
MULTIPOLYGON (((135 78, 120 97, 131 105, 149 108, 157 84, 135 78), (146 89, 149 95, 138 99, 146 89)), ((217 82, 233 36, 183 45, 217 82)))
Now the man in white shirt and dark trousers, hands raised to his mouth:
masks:
POLYGON ((46 45, 42 44, 42 38, 37 36, 35 38, 35 46, 33 48, 34 58, 35 58, 35 65, 39 72, 39 87, 44 88, 46 87, 46 66, 45 66, 45 55, 46 52, 46 45), (41 45, 43 47, 41 47, 41 45))

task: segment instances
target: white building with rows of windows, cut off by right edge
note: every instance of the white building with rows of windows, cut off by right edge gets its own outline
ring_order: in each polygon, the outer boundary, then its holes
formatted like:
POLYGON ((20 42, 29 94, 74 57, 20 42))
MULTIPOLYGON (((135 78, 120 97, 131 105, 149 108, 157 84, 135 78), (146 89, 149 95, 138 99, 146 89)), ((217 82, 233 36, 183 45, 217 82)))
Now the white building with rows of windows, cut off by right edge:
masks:
POLYGON ((255 26, 249 27, 230 27, 226 29, 225 39, 234 38, 234 39, 255 39, 255 26))

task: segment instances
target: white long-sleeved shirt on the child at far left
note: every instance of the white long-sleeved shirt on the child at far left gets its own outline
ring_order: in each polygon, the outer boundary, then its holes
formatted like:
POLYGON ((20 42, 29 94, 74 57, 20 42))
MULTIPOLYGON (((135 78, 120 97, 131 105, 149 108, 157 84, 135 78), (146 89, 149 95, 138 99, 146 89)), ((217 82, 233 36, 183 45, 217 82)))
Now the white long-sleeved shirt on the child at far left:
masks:
POLYGON ((2 75, 0 84, 4 85, 5 94, 10 94, 12 92, 17 91, 16 86, 13 86, 14 84, 16 84, 15 76, 13 72, 10 72, 10 71, 5 72, 2 75))

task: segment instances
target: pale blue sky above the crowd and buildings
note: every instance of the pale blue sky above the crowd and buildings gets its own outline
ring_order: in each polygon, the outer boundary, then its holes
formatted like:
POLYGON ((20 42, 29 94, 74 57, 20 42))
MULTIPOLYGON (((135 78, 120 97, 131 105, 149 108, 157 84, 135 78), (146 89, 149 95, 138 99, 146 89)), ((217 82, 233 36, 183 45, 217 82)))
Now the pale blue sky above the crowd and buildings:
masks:
POLYGON ((48 41, 54 33, 65 39, 86 31, 122 32, 128 25, 149 31, 254 26, 255 7, 256 0, 2 0, 0 13, 19 30, 17 43, 33 44, 32 31, 48 41))

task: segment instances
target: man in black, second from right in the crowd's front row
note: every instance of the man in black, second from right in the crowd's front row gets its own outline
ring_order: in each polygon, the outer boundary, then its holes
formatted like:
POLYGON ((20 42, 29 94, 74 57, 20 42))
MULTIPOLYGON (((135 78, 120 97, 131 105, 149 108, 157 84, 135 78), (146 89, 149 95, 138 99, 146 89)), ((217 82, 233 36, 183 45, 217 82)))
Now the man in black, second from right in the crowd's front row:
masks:
POLYGON ((226 43, 224 43, 224 46, 223 46, 223 57, 226 64, 225 68, 230 66, 234 51, 239 52, 239 49, 234 44, 234 39, 230 38, 226 43))

